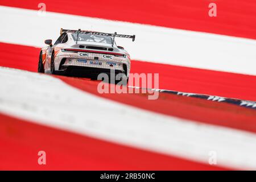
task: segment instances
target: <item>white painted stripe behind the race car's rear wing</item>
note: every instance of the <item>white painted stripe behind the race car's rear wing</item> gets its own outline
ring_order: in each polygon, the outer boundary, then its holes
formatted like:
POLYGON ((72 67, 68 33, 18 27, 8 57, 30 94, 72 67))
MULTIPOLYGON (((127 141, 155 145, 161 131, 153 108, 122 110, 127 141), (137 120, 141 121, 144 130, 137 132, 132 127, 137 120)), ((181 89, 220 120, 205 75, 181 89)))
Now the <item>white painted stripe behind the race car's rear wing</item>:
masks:
POLYGON ((136 35, 135 42, 117 39, 135 60, 256 75, 255 40, 5 6, 0 16, 1 42, 42 47, 61 27, 116 31, 136 35))

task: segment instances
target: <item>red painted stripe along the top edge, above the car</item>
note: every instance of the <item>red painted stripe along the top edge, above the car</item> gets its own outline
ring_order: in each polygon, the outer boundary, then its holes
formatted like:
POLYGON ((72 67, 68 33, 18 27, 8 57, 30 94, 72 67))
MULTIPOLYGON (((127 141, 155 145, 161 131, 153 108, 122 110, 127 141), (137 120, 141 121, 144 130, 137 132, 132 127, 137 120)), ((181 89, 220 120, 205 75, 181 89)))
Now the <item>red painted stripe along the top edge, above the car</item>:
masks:
MULTIPOLYGON (((42 1, 1 0, 0 5, 39 10, 42 1)), ((46 10, 122 20, 134 23, 180 28, 184 30, 211 32, 256 39, 256 1, 254 0, 153 0, 98 1, 44 0, 46 10), (208 15, 208 5, 217 5, 217 17, 208 15)))

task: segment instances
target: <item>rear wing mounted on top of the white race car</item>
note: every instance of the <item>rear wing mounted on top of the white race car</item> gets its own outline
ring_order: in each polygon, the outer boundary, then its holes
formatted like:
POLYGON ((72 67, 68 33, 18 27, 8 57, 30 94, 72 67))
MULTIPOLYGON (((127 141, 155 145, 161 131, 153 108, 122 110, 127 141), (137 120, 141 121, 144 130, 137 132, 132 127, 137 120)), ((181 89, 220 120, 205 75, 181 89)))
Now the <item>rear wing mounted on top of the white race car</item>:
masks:
POLYGON ((115 32, 114 34, 109 34, 109 33, 103 33, 103 32, 94 32, 94 31, 86 31, 86 30, 66 30, 61 28, 60 29, 60 35, 63 34, 63 32, 72 32, 76 34, 88 34, 88 35, 101 35, 101 36, 113 36, 114 38, 130 38, 133 39, 133 42, 135 40, 135 35, 122 35, 122 34, 117 34, 115 32))

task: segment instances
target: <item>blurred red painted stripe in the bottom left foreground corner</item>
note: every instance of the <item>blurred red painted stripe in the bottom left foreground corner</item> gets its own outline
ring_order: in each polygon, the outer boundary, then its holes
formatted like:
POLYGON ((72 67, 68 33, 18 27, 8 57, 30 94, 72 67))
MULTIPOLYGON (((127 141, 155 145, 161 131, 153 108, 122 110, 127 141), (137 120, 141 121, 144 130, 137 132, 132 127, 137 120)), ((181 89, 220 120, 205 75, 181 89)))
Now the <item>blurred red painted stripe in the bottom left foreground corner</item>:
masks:
POLYGON ((0 114, 0 169, 4 170, 223 170, 122 146, 0 114), (104 148, 104 150, 102 150, 104 148), (46 152, 46 165, 38 152, 46 152))

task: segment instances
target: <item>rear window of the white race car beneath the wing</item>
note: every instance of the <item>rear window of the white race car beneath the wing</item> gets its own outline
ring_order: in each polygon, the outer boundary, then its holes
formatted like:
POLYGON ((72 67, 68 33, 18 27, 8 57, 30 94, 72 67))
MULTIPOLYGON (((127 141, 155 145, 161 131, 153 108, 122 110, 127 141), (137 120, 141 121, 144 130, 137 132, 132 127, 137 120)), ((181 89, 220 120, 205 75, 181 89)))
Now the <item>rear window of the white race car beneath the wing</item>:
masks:
MULTIPOLYGON (((77 34, 72 34, 72 38, 76 41, 77 34)), ((110 36, 79 34, 77 41, 112 44, 113 39, 110 36)))

